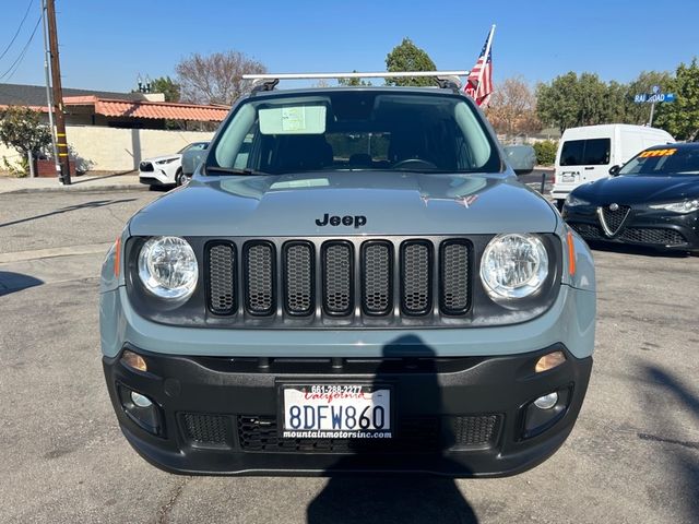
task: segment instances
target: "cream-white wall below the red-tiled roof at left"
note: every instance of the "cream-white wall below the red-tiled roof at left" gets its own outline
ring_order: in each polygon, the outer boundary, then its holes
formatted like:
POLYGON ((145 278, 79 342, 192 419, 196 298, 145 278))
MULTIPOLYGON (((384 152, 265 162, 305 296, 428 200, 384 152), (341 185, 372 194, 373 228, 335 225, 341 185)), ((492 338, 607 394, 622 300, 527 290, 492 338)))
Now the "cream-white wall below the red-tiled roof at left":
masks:
MULTIPOLYGON (((66 129, 71 154, 79 169, 91 171, 130 171, 152 156, 177 153, 190 142, 211 140, 213 133, 201 131, 161 131, 155 129, 116 129, 97 126, 68 126, 66 129)), ((2 157, 19 159, 14 150, 0 144, 2 157)))

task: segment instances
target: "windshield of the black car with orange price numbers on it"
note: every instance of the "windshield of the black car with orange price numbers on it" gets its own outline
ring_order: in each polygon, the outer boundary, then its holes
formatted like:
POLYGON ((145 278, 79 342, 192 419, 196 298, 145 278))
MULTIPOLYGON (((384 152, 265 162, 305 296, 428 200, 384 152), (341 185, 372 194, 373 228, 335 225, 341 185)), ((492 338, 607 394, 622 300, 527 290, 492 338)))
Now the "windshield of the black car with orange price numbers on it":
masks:
POLYGON ((699 147, 667 147, 645 150, 631 158, 619 170, 619 175, 699 175, 699 147))

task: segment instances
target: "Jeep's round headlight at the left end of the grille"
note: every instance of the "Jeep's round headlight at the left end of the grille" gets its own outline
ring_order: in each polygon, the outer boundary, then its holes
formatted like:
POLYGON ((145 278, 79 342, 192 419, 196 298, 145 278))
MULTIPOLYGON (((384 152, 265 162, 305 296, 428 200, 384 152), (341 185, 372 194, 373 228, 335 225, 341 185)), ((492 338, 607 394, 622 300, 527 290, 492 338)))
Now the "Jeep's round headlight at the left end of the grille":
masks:
POLYGON ((199 278, 194 251, 183 238, 151 238, 139 253, 139 277, 145 288, 157 297, 189 297, 199 278))

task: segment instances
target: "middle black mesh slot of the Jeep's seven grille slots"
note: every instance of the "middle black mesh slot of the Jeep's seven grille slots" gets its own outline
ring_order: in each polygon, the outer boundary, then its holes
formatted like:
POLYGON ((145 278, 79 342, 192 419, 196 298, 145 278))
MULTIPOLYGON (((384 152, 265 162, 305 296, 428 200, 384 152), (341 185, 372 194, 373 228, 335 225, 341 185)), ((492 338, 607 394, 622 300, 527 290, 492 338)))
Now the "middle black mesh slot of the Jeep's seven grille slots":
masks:
POLYGON ((352 312, 352 247, 331 243, 323 253, 323 306, 331 314, 352 312))

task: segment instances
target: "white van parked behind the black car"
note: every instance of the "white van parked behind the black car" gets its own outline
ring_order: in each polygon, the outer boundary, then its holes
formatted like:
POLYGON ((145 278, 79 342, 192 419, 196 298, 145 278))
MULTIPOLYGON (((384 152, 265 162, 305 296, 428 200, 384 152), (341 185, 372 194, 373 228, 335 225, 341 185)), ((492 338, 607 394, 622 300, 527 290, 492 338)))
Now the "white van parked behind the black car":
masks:
POLYGON ((609 168, 620 166, 651 145, 675 142, 662 129, 626 123, 585 126, 564 131, 556 153, 556 170, 552 198, 562 207, 568 193, 581 183, 609 175, 609 168))

